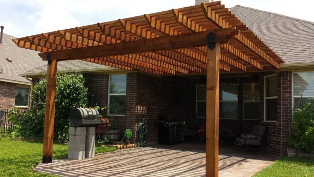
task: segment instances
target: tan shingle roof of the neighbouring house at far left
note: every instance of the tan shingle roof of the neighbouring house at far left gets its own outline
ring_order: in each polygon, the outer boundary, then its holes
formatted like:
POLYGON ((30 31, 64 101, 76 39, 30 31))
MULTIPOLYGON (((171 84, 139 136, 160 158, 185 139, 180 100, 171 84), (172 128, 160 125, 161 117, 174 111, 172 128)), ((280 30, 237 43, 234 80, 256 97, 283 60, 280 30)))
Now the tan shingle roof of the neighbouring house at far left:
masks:
POLYGON ((41 60, 37 51, 17 47, 12 38, 15 37, 3 34, 0 43, 0 81, 30 85, 30 81, 19 74, 46 62, 41 60))

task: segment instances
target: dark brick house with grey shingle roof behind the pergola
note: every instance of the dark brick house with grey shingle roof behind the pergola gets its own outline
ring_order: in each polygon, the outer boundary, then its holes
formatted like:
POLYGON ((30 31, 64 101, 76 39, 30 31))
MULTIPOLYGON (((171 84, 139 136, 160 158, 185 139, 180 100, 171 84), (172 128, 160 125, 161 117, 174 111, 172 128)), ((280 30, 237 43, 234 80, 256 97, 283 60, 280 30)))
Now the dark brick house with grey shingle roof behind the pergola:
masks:
MULTIPOLYGON (((314 23, 243 6, 231 11, 283 60, 281 70, 220 74, 220 125, 240 124, 241 133, 253 125, 266 126, 262 150, 286 154, 291 112, 301 94, 314 97, 314 23)), ((47 66, 21 76, 38 77, 47 66)), ((100 106, 109 105, 121 130, 136 129, 148 118, 149 141, 158 141, 158 114, 182 119, 191 129, 205 124, 205 75, 154 76, 83 61, 59 62, 58 70, 88 75, 88 86, 100 106)))

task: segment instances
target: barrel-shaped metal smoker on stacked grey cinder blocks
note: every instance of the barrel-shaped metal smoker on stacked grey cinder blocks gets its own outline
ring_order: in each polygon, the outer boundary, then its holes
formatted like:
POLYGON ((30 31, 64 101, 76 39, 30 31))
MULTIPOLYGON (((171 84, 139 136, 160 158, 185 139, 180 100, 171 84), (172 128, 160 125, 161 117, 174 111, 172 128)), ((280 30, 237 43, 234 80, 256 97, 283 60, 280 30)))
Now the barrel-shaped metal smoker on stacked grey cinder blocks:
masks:
POLYGON ((99 112, 91 108, 74 108, 69 113, 69 159, 95 156, 95 129, 101 124, 99 112))

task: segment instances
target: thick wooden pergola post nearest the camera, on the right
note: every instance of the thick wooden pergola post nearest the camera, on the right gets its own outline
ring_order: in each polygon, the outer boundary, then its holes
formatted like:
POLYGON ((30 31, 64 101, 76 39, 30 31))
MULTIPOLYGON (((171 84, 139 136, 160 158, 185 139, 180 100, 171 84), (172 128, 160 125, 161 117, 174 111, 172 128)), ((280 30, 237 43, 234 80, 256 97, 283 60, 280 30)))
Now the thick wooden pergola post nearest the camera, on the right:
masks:
POLYGON ((206 81, 206 176, 218 177, 220 43, 207 50, 206 81))

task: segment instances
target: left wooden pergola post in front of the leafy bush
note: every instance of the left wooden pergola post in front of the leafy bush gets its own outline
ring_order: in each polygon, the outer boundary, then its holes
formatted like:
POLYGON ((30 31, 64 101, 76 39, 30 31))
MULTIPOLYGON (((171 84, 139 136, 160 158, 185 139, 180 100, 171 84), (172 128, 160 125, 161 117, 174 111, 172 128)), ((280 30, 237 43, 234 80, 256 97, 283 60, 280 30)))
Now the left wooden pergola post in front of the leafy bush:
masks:
POLYGON ((57 61, 56 60, 48 61, 43 163, 52 162, 56 80, 57 80, 57 61))

